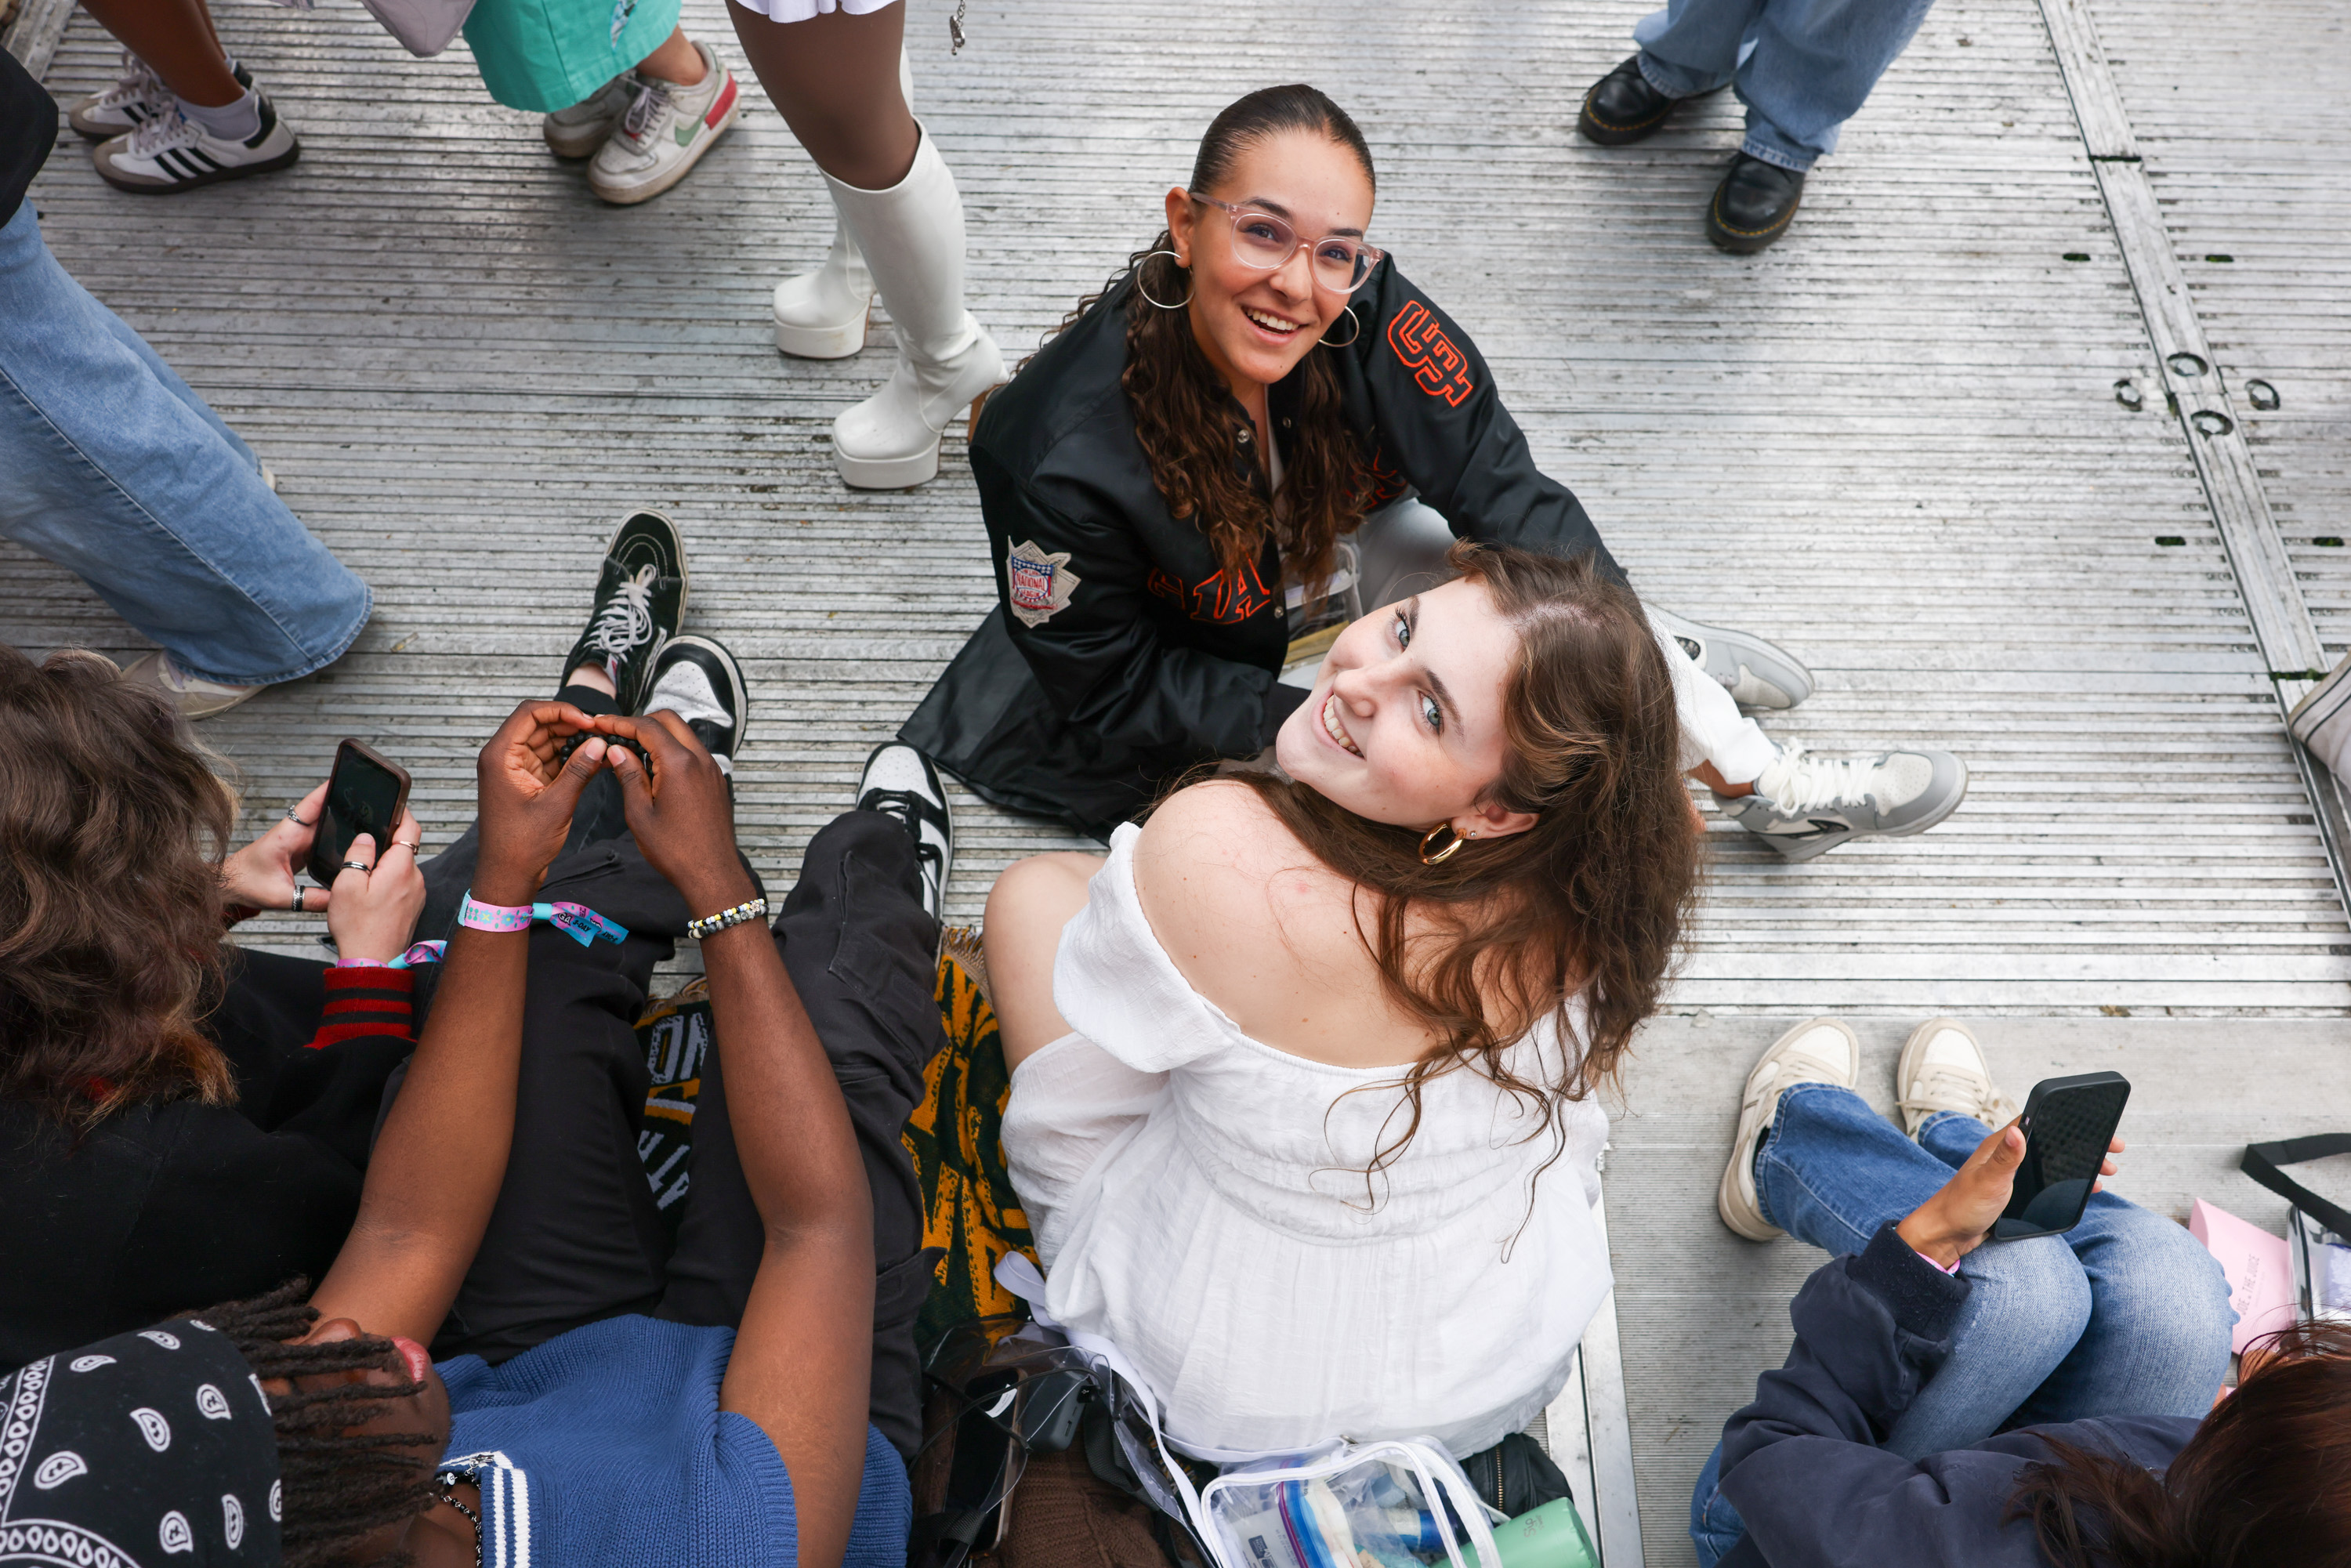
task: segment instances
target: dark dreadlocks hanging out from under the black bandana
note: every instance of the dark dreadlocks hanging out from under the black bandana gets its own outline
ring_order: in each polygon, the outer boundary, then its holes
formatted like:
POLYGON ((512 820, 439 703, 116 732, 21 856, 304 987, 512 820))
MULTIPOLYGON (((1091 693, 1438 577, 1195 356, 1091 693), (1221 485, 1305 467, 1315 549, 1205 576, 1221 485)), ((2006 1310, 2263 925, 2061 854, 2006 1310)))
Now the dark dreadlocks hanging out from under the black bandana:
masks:
POLYGON ((219 1328, 254 1368, 254 1378, 287 1378, 292 1392, 270 1394, 277 1427, 277 1479, 282 1519, 277 1533, 284 1568, 407 1568, 407 1552, 362 1561, 360 1542, 386 1526, 433 1507, 433 1488, 418 1474, 416 1450, 440 1453, 447 1432, 350 1432, 383 1406, 416 1394, 423 1385, 402 1375, 393 1382, 334 1382, 303 1387, 303 1378, 353 1371, 404 1373, 400 1349, 374 1333, 327 1345, 299 1345, 317 1324, 310 1281, 289 1279, 268 1295, 207 1307, 219 1328))

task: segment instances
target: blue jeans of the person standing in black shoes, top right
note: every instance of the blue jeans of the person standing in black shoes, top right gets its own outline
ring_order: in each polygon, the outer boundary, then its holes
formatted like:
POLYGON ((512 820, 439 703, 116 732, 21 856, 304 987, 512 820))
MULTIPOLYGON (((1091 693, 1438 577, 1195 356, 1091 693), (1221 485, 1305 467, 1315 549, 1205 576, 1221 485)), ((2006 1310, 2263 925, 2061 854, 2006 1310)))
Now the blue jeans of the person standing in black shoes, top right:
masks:
POLYGON ((1747 103, 1749 158, 1810 169, 1836 150, 1935 0, 1667 0, 1632 35, 1641 75, 1688 99, 1733 85, 1747 103))

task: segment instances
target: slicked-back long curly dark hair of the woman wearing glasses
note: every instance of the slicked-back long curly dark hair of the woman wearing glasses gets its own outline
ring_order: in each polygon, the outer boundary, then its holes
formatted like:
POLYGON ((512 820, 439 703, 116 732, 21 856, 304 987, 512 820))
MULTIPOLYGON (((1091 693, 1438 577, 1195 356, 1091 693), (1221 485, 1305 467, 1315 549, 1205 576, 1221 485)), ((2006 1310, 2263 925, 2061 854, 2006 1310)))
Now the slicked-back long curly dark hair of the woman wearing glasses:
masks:
MULTIPOLYGON (((1345 108, 1305 85, 1260 87, 1227 103, 1199 139, 1190 188, 1215 190, 1248 146, 1286 132, 1326 136, 1347 148, 1364 165, 1364 179, 1378 188, 1364 132, 1345 108)), ((1199 531, 1225 571, 1255 564, 1265 541, 1274 538, 1284 578, 1319 583, 1331 574, 1333 541, 1364 522, 1371 501, 1371 465, 1340 411, 1338 371, 1331 364, 1335 350, 1310 348, 1298 364, 1298 428, 1288 433, 1281 505, 1274 508, 1248 480, 1258 461, 1244 461, 1234 442, 1232 388, 1199 350, 1192 313, 1150 303, 1192 294, 1192 275, 1168 254, 1173 244, 1176 237, 1161 228, 1157 240, 1126 259, 1124 273, 1081 299, 1060 329, 1133 277, 1119 386, 1168 512, 1199 520, 1199 531)))

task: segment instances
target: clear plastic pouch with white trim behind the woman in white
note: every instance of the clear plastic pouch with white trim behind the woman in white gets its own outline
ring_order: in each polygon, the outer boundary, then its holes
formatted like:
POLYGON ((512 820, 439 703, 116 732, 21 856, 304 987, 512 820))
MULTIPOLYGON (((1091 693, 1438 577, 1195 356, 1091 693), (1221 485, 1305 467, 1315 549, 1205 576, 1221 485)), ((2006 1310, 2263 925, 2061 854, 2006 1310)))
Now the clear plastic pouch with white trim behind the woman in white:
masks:
POLYGON ((1194 1526, 1223 1568, 1500 1561, 1469 1476, 1425 1436, 1230 1465, 1199 1490, 1194 1526))

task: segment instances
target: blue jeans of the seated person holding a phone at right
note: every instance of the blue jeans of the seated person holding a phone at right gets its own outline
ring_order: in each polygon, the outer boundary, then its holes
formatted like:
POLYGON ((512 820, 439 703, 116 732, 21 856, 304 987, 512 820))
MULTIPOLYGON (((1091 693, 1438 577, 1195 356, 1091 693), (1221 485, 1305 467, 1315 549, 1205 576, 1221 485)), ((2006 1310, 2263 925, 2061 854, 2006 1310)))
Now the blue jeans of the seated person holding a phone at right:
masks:
MULTIPOLYGON (((1796 1084, 1756 1150, 1756 1194, 1799 1241, 1860 1253, 1989 1135, 1982 1121, 1935 1112, 1911 1143, 1850 1088, 1796 1084)), ((1987 1241, 1958 1272, 1972 1288, 1951 1356, 1886 1434, 1893 1453, 1916 1460, 2010 1427, 2212 1408, 2236 1309, 2226 1274, 2186 1227, 2099 1192, 2067 1234, 1987 1241)), ((1702 1568, 1744 1535, 1716 1490, 1721 1460, 1716 1443, 1690 1495, 1702 1568)))

